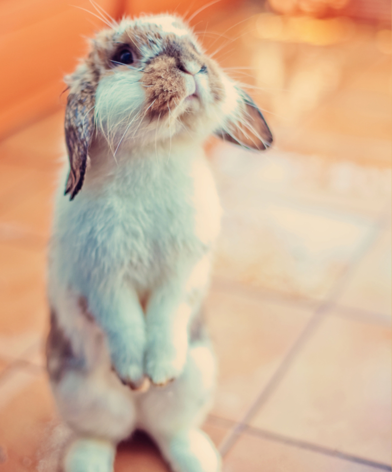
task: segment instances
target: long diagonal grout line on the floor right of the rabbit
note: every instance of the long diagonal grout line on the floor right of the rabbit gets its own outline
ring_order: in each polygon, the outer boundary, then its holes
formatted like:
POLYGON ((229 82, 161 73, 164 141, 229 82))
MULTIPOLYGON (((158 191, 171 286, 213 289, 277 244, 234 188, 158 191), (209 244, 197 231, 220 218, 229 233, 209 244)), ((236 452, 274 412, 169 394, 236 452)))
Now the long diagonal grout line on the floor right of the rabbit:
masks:
POLYGON ((376 240, 377 236, 379 235, 383 226, 386 223, 385 220, 386 218, 384 216, 382 218, 379 218, 378 223, 376 223, 373 229, 369 232, 368 237, 365 239, 364 243, 357 251, 357 253, 354 254, 351 262, 347 264, 345 269, 342 271, 341 275, 338 277, 337 282, 331 288, 329 295, 325 298, 325 301, 322 302, 318 308, 316 308, 314 315, 310 318, 309 322, 302 330, 296 341, 294 341, 294 344, 288 350, 283 361, 271 376, 270 381, 267 383, 266 387, 261 391, 259 396, 250 406, 248 411, 245 413, 243 419, 227 433, 219 448, 222 456, 227 454, 230 448, 234 446, 234 444, 237 442, 239 436, 245 431, 246 428, 248 428, 247 423, 253 418, 256 412, 260 410, 260 408, 268 401, 271 393, 279 385, 281 379, 285 376, 285 374, 295 361, 298 352, 302 349, 306 341, 314 333, 326 313, 332 307, 334 307, 335 300, 343 291, 344 285, 348 281, 354 268, 357 266, 359 261, 365 256, 367 251, 370 249, 370 247, 376 240))

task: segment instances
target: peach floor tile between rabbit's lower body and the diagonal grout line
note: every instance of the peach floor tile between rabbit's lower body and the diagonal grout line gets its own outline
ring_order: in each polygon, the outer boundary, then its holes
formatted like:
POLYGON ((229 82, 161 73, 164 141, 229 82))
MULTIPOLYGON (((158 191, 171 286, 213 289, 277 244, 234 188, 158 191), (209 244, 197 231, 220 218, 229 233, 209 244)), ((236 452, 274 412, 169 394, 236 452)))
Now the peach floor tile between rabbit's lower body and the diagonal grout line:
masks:
POLYGON ((206 320, 219 362, 214 415, 230 420, 245 415, 311 314, 212 290, 206 320))

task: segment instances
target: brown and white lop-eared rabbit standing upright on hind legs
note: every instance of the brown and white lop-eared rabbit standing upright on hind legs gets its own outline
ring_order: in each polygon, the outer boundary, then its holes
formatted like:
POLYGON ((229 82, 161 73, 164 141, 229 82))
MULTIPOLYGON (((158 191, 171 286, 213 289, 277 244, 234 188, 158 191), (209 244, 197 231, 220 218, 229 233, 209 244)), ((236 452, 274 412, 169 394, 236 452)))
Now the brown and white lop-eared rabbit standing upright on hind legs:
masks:
POLYGON ((65 472, 113 471, 140 429, 174 472, 218 472, 199 428, 216 361, 202 320, 221 207, 203 142, 270 147, 262 113, 176 16, 123 18, 65 79, 69 165, 49 241, 47 368, 75 432, 65 472))

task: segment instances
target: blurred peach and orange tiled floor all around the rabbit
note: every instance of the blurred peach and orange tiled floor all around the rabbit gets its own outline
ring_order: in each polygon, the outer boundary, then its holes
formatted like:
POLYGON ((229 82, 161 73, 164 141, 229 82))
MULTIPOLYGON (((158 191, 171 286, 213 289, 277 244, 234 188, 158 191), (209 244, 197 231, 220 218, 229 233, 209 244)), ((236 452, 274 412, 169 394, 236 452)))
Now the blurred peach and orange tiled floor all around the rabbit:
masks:
MULTIPOLYGON (((249 93, 270 111, 276 145, 263 156, 210 147, 225 213, 207 300, 221 367, 205 430, 225 472, 391 470, 391 56, 369 26, 343 22, 348 36, 316 46, 287 40, 282 20, 266 38, 271 17, 253 10, 217 18, 209 31, 244 20, 218 58, 250 67, 231 72, 263 89, 249 93)), ((204 42, 213 51, 223 39, 204 42)), ((59 111, 0 143, 7 472, 55 471, 69 434, 42 354, 62 120, 59 111)), ((120 446, 115 469, 168 470, 142 435, 120 446)))

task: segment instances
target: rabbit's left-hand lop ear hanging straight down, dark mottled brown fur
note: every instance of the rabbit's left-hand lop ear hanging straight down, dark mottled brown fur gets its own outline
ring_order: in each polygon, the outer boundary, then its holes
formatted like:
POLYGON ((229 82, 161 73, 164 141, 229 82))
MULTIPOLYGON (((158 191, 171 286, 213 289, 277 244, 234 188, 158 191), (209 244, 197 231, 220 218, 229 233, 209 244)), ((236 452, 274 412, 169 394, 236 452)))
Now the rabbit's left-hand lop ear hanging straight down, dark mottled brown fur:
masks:
POLYGON ((70 200, 82 188, 89 163, 88 150, 94 132, 96 88, 96 83, 79 79, 76 83, 73 82, 68 96, 64 127, 70 173, 65 195, 69 193, 70 200))

